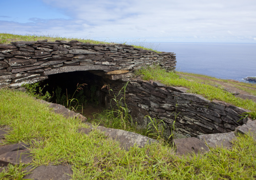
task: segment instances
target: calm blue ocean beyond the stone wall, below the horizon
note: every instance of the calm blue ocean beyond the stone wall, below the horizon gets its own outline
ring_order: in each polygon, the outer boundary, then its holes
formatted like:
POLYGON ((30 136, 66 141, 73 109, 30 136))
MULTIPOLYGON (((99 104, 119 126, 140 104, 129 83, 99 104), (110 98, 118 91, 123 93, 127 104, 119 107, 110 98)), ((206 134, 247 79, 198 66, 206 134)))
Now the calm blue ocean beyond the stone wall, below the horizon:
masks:
MULTIPOLYGON (((134 43, 135 44, 135 43, 134 43)), ((256 77, 256 43, 144 43, 176 54, 176 70, 248 82, 256 77)))

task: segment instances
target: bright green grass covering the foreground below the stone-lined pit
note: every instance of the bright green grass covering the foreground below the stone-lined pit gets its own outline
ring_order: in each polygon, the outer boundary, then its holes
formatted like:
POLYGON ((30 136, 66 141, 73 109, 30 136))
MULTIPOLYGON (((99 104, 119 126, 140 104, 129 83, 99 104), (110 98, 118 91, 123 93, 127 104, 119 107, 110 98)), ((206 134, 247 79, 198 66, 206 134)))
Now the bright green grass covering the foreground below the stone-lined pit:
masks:
MULTIPOLYGON (((71 164, 73 179, 254 179, 256 142, 239 135, 232 149, 211 149, 207 154, 176 156, 161 144, 122 150, 118 143, 93 130, 89 135, 77 132, 86 127, 76 119, 51 112, 31 96, 0 89, 0 125, 9 128, 6 143, 34 142, 33 165, 71 164)), ((16 167, 7 170, 13 176, 24 173, 16 167), (18 170, 17 170, 18 169, 18 170)), ((0 177, 15 179, 0 173, 0 177)))

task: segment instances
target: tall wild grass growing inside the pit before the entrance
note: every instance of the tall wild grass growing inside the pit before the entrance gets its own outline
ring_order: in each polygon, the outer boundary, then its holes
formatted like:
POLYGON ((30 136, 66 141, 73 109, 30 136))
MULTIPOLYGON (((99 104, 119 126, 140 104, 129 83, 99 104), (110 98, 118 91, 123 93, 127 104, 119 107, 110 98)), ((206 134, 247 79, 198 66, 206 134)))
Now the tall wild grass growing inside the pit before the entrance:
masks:
POLYGON ((149 123, 145 129, 138 128, 137 122, 133 122, 133 119, 129 114, 129 109, 125 103, 125 92, 128 83, 129 82, 127 82, 117 94, 114 93, 110 86, 105 85, 104 88, 109 90, 109 95, 112 97, 110 103, 113 106, 111 106, 110 109, 104 109, 101 113, 94 113, 94 118, 89 118, 89 122, 94 125, 101 125, 108 128, 122 129, 142 134, 155 138, 167 145, 166 138, 163 133, 160 133, 161 131, 158 128, 161 127, 164 130, 163 125, 157 123, 158 121, 163 122, 162 120, 157 120, 155 118, 152 119, 150 116, 146 116, 145 118, 149 118, 151 123, 149 123), (122 102, 124 103, 124 106, 121 105, 122 102))

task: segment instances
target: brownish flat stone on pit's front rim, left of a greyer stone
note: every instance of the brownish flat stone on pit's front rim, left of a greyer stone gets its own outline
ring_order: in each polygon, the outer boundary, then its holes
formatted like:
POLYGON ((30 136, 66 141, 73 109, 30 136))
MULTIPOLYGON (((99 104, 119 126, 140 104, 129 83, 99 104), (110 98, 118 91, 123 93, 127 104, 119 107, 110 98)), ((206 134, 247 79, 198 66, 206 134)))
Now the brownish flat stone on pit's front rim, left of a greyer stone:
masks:
POLYGON ((205 142, 196 137, 173 139, 173 143, 176 147, 176 154, 178 155, 210 151, 205 142))

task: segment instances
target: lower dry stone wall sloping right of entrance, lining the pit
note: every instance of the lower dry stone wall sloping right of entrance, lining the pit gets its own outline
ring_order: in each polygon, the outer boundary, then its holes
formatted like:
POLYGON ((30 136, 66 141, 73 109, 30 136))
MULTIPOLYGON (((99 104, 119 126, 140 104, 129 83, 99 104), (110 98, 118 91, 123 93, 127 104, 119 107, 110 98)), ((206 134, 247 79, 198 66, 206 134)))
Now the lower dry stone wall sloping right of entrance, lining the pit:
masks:
MULTIPOLYGON (((115 94, 124 82, 107 81, 115 94)), ((233 106, 222 101, 209 101, 201 95, 186 92, 183 87, 170 87, 164 84, 130 80, 127 84, 125 101, 130 109, 133 120, 141 127, 147 127, 152 118, 164 121, 165 135, 169 137, 175 120, 177 138, 202 134, 228 133, 234 131, 248 120, 241 119, 240 114, 248 112, 246 109, 233 106)), ((107 95, 108 100, 113 97, 107 95)))

